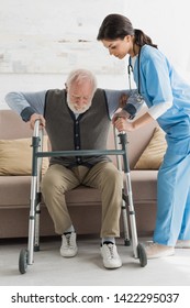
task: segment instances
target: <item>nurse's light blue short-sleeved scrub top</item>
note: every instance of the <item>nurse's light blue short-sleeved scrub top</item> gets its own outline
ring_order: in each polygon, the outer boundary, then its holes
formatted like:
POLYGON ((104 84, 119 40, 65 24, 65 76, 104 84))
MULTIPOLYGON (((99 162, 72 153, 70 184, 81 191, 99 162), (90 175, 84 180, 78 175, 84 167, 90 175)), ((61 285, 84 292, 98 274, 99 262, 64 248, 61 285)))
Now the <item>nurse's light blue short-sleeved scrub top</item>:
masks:
MULTIPOLYGON (((172 101, 171 108, 157 121, 169 142, 189 139, 186 151, 190 151, 190 85, 178 75, 160 51, 149 45, 141 50, 139 78, 141 95, 147 107, 172 101)), ((134 66, 134 80, 138 87, 138 58, 134 66)))

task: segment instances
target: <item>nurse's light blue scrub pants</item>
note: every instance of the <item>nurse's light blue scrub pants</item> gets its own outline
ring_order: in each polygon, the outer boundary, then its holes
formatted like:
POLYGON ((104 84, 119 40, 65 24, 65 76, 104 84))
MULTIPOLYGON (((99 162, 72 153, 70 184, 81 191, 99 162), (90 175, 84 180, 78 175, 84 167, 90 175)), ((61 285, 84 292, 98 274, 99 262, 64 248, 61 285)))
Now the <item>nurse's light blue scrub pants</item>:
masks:
POLYGON ((153 240, 169 246, 175 246, 177 240, 190 240, 190 135, 179 142, 168 140, 158 172, 153 240))

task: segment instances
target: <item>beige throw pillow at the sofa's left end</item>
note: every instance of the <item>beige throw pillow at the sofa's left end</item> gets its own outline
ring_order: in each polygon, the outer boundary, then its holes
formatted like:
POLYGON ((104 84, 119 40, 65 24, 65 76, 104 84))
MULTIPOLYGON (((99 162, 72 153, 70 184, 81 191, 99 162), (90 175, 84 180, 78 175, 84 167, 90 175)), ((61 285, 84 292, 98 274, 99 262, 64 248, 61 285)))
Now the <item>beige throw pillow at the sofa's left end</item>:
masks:
MULTIPOLYGON (((0 140, 0 175, 31 175, 32 139, 0 140)), ((47 136, 44 136, 47 151, 47 136)), ((48 167, 48 158, 43 158, 42 173, 48 167)))

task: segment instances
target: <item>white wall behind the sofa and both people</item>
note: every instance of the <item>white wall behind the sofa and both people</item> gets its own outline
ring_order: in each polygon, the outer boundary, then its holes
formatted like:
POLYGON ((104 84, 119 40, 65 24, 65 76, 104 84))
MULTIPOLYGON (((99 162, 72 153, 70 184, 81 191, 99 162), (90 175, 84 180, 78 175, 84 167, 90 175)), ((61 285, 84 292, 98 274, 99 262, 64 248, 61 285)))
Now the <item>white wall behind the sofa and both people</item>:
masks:
POLYGON ((110 57, 96 40, 102 19, 112 12, 128 16, 190 81, 188 2, 0 0, 0 109, 8 108, 4 95, 9 91, 62 88, 69 67, 81 64, 94 70, 100 87, 127 87, 126 61, 110 57), (67 48, 57 43, 60 40, 69 41, 67 48))

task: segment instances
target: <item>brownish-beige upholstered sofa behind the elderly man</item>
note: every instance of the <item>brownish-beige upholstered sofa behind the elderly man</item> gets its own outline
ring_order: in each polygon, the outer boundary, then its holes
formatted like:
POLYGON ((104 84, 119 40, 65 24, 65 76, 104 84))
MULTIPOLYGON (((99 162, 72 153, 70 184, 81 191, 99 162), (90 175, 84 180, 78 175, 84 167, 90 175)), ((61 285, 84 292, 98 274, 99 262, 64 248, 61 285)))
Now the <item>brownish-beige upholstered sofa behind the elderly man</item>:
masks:
MULTIPOLYGON (((138 235, 153 234, 156 216, 157 170, 133 168, 148 144, 155 127, 156 122, 147 125, 144 130, 128 134, 128 157, 138 235)), ((32 136, 32 131, 27 123, 24 123, 12 110, 0 110, 0 140, 29 136, 32 136)), ((111 131, 109 148, 113 148, 113 144, 111 131)), ((113 157, 113 160, 115 158, 113 157)), ((0 176, 0 239, 27 237, 30 187, 30 175, 0 176)), ((77 233, 99 233, 101 226, 99 191, 79 187, 69 191, 66 198, 77 233)), ((55 235, 53 222, 45 205, 42 205, 41 210, 41 235, 55 235)), ((123 230, 122 219, 121 230, 123 230)))

